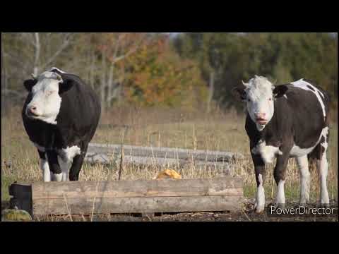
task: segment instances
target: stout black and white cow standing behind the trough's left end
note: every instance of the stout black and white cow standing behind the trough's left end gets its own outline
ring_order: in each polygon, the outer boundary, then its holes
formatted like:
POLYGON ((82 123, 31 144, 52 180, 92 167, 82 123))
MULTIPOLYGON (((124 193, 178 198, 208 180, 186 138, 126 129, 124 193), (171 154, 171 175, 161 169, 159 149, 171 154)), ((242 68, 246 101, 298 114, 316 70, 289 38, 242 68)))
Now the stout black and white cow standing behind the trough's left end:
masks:
POLYGON ((40 155, 44 181, 77 181, 99 123, 100 101, 77 75, 58 68, 23 83, 23 124, 40 155))

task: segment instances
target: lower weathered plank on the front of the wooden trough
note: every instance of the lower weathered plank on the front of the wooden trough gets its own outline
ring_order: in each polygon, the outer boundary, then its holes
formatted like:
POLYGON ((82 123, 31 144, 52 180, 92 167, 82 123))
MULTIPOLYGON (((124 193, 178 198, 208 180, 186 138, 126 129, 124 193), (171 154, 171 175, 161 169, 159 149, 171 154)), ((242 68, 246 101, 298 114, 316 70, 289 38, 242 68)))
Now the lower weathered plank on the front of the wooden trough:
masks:
POLYGON ((153 197, 153 198, 66 198, 33 200, 35 215, 211 212, 241 209, 242 195, 153 197), (94 207, 94 208, 93 208, 94 207))

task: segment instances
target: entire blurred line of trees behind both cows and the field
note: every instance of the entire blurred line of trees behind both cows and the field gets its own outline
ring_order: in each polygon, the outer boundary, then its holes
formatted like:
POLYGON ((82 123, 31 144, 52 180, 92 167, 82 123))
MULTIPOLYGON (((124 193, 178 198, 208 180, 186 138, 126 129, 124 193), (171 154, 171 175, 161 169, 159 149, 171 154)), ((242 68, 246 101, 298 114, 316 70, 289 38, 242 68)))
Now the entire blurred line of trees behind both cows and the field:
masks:
POLYGON ((335 105, 337 43, 333 33, 2 33, 1 109, 22 104, 23 80, 53 66, 91 85, 103 111, 119 104, 241 109, 230 90, 254 75, 315 80, 335 105))

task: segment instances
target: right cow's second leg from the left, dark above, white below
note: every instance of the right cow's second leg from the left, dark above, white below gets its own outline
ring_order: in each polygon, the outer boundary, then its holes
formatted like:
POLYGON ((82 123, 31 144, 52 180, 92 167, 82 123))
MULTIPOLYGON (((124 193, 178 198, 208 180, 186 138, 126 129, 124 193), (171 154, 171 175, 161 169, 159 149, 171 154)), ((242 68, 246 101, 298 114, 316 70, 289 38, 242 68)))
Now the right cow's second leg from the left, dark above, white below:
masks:
POLYGON ((282 155, 277 156, 277 164, 274 168, 274 180, 278 186, 275 203, 278 207, 285 207, 285 173, 288 162, 289 153, 283 152, 282 155))

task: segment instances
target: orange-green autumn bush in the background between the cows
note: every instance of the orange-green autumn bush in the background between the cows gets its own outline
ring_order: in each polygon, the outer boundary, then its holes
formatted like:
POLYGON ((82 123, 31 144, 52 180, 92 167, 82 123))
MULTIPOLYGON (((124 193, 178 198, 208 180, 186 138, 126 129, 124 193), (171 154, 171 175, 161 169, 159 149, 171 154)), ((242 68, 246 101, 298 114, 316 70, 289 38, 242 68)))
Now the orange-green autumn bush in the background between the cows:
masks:
POLYGON ((198 67, 182 61, 166 37, 144 44, 121 64, 129 70, 124 95, 130 103, 193 107, 206 100, 207 85, 198 67))

